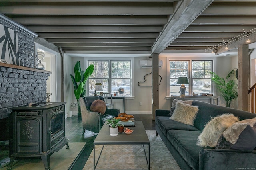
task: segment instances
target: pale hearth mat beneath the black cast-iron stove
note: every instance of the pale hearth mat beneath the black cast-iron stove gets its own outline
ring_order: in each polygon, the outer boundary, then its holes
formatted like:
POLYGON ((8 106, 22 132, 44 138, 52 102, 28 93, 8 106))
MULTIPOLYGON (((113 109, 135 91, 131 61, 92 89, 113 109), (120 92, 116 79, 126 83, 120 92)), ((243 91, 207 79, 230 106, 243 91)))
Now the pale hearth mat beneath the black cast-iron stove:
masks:
MULTIPOLYGON (((68 170, 76 157, 84 150, 86 143, 69 142, 69 148, 66 145, 58 152, 50 156, 51 170, 68 170)), ((22 159, 12 166, 12 170, 44 170, 44 163, 39 159, 22 159)))

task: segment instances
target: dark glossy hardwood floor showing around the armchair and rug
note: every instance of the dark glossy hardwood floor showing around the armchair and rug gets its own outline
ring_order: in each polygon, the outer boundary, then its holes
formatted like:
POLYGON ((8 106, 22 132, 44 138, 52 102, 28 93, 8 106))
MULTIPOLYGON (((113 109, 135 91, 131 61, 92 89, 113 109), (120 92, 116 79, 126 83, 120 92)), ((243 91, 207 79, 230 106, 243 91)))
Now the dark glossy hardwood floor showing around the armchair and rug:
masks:
MULTIPOLYGON (((152 115, 134 115, 134 119, 142 121, 146 130, 155 130, 155 121, 152 120, 152 115)), ((82 170, 92 152, 93 141, 96 135, 90 131, 86 131, 83 135, 82 120, 77 116, 65 119, 65 130, 69 142, 86 142, 86 148, 71 168, 71 170, 82 170)))

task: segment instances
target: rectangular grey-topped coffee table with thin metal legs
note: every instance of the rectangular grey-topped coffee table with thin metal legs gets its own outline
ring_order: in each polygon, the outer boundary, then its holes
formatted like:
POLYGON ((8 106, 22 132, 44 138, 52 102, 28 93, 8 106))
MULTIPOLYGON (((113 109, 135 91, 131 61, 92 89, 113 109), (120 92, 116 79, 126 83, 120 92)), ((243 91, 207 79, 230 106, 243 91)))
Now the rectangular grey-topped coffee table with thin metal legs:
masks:
POLYGON ((100 155, 105 145, 142 145, 145 156, 146 156, 146 161, 148 164, 148 170, 150 170, 150 142, 142 121, 136 121, 135 127, 128 127, 128 128, 134 130, 132 134, 127 135, 126 133, 119 133, 117 136, 112 137, 109 135, 109 125, 107 125, 107 122, 104 123, 97 137, 94 139, 94 143, 93 143, 94 144, 94 151, 93 151, 94 170, 96 170, 96 166, 99 162, 100 155), (95 145, 103 145, 96 163, 95 163, 95 145), (148 158, 146 155, 146 150, 144 145, 148 145, 148 158))

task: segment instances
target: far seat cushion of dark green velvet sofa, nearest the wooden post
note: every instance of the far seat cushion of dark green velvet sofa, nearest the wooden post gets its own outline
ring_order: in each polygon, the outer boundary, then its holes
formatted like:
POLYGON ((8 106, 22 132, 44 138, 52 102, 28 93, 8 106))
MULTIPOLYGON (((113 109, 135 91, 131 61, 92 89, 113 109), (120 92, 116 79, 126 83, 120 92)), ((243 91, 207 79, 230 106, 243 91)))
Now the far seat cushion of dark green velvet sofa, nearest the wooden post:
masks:
POLYGON ((196 127, 191 125, 186 125, 178 121, 170 120, 167 116, 157 116, 156 124, 161 129, 162 133, 166 135, 166 132, 170 129, 176 130, 186 130, 186 131, 199 131, 196 127))

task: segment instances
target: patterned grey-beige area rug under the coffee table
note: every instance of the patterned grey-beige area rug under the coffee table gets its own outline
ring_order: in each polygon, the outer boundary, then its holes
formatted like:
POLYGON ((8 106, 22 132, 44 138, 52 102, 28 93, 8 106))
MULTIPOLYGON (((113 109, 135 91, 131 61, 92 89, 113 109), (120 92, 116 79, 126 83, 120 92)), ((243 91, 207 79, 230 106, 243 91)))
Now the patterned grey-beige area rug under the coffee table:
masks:
MULTIPOLYGON (((180 170, 178 164, 164 145, 156 131, 146 131, 150 141, 150 170, 180 170)), ((103 145, 96 145, 95 156, 98 158, 103 145)), ((145 145, 148 157, 148 145, 145 145)), ((141 145, 107 145, 102 151, 97 169, 148 169, 146 157, 141 145)), ((93 150, 83 168, 93 170, 93 150)))

